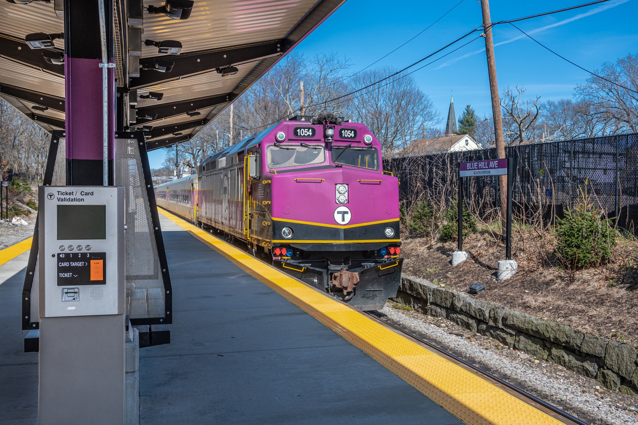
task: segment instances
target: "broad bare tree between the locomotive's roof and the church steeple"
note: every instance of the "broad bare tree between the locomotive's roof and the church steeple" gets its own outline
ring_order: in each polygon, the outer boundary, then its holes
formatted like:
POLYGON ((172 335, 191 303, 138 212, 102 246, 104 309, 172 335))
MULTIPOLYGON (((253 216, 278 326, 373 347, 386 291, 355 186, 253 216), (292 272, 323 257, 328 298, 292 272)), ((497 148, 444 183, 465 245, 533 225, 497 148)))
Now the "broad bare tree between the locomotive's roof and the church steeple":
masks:
MULTIPOLYGON (((352 78, 353 87, 366 87, 386 75, 393 68, 364 71, 352 78)), ((396 75, 355 94, 350 101, 352 117, 362 122, 380 141, 386 156, 405 147, 433 126, 439 119, 432 101, 419 89, 411 75, 396 75)))

